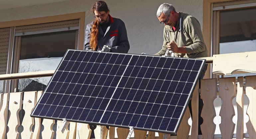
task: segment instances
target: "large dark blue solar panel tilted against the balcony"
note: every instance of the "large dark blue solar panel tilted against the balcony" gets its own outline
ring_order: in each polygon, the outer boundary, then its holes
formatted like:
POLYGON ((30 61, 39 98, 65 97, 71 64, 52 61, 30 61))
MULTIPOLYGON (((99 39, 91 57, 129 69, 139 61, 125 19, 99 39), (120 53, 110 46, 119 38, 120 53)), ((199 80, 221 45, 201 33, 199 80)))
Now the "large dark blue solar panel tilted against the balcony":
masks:
POLYGON ((31 116, 176 134, 204 64, 67 50, 31 116))

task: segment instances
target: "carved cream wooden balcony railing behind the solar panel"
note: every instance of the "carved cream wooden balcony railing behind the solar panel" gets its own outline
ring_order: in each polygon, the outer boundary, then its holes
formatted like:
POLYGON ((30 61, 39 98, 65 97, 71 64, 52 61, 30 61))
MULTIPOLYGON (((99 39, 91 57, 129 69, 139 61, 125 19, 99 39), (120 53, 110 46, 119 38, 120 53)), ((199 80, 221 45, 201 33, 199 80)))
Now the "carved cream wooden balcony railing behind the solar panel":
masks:
MULTIPOLYGON (((229 73, 256 73, 256 52, 246 52, 237 54, 214 55, 213 71, 215 74, 229 74, 229 73), (229 56, 228 56, 229 55, 229 56), (215 57, 216 56, 216 57, 215 57), (214 58, 215 57, 215 58, 214 58), (240 57, 240 58, 239 58, 240 57), (242 60, 241 60, 242 59, 242 60), (230 62, 229 62, 230 61, 230 62), (223 64, 223 62, 225 64, 223 64), (253 64, 252 64, 253 63, 253 64), (248 65, 250 67, 248 67, 248 65), (220 67, 218 67, 220 66, 220 67), (233 68, 235 67, 235 68, 233 68)), ((211 58, 208 58, 211 59, 211 58)), ((42 72, 42 71, 41 71, 42 72)), ((29 77, 51 76, 54 71, 43 71, 45 74, 27 73, 29 77)), ((5 74, 0 75, 0 80, 28 78, 27 75, 5 74), (18 77, 19 76, 19 77, 18 77)), ((26 73, 24 73, 26 74, 26 73)), ((192 111, 193 119, 192 125, 189 125, 190 112, 186 110, 182 119, 177 136, 170 136, 163 133, 134 130, 134 137, 132 139, 242 139, 256 137, 256 76, 246 76, 228 78, 216 78, 201 80, 201 89, 195 88, 192 96, 192 111), (218 82, 218 84, 217 84, 218 82), (218 92, 218 93, 217 93, 218 92), (198 135, 198 93, 201 94, 201 99, 204 101, 201 117, 203 124, 201 125, 202 135, 198 135), (235 101, 233 100, 236 97, 235 101), (219 111, 221 123, 215 124, 214 118, 217 117, 217 108, 214 107, 214 100, 221 99, 222 104, 219 111), (246 114, 244 107, 245 98, 248 98, 248 108, 246 114), (236 109, 232 104, 236 104, 236 109), (233 123, 233 116, 237 111, 237 120, 233 123), (249 117, 248 122, 244 126, 244 117, 249 117), (236 126, 236 131, 235 130, 236 126), (215 134, 216 127, 219 127, 220 134, 215 134), (244 132, 244 127, 247 132, 244 132), (234 134, 235 133, 235 134, 234 134), (146 137, 147 136, 147 137, 146 137)), ((32 118, 30 114, 42 95, 42 91, 31 92, 15 92, 0 94, 0 139, 16 139, 19 136, 22 139, 89 139, 92 130, 88 124, 70 122, 69 126, 64 132, 59 131, 62 121, 42 118, 32 118), (19 112, 24 111, 22 116, 22 123, 20 122, 19 112), (7 115, 8 113, 8 115, 7 115), (54 128, 57 125, 57 129, 54 128), (18 127, 23 126, 22 131, 18 131, 18 127), (33 129, 33 130, 32 130, 33 129)), ((128 135, 129 129, 115 128, 105 126, 97 126, 94 129, 96 139, 125 139, 128 135), (115 130, 116 129, 116 130, 115 130)))

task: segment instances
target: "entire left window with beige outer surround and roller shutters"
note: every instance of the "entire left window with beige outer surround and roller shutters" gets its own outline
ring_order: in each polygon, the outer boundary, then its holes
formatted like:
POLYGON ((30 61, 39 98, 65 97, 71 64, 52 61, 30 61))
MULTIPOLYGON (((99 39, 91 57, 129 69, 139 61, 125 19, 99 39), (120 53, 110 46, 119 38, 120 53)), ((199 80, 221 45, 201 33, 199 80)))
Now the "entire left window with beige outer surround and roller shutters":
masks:
MULTIPOLYGON (((66 49, 83 49, 84 25, 85 12, 0 22, 0 74, 55 70, 66 49)), ((3 80, 0 93, 43 90, 50 78, 3 80)))

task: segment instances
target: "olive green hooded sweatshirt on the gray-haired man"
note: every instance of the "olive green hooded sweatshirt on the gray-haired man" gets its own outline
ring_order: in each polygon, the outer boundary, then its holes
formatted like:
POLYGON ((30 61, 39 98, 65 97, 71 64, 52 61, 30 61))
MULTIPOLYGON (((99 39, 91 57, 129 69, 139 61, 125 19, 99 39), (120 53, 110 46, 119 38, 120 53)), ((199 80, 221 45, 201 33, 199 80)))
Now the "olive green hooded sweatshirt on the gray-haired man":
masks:
POLYGON ((186 13, 179 13, 179 20, 175 31, 173 27, 165 25, 164 27, 164 44, 162 49, 156 53, 156 56, 165 55, 167 50, 167 43, 172 42, 178 47, 186 47, 187 54, 174 53, 175 57, 184 58, 200 58, 207 57, 207 48, 203 41, 203 35, 200 23, 191 15, 186 13))

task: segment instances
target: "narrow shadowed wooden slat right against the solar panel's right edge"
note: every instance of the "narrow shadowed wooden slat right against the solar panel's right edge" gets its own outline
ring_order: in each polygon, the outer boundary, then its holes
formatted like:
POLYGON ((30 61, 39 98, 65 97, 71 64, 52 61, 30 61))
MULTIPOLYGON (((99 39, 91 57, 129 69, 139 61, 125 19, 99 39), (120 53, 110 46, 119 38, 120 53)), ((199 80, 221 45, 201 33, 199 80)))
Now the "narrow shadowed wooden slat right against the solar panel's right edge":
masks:
POLYGON ((192 128, 191 128, 191 138, 197 139, 198 138, 198 87, 199 87, 199 81, 197 82, 193 96, 191 101, 192 106, 192 128))

